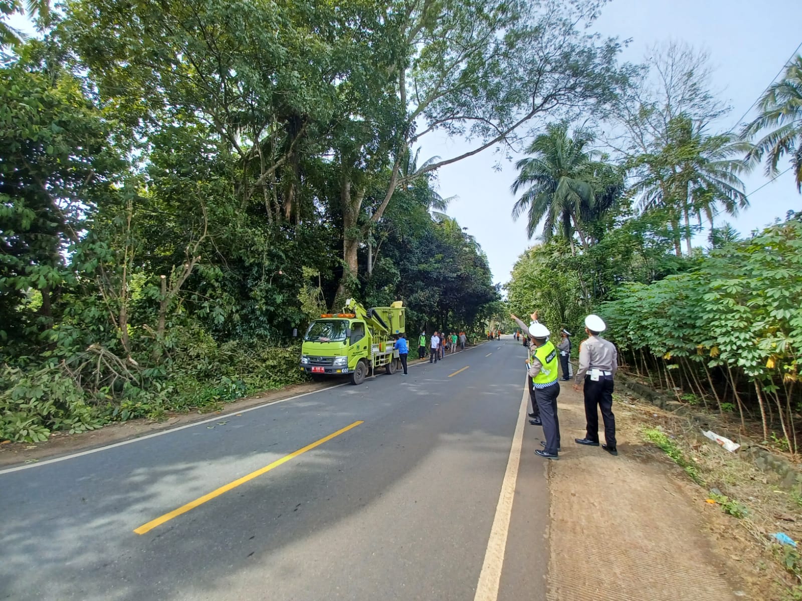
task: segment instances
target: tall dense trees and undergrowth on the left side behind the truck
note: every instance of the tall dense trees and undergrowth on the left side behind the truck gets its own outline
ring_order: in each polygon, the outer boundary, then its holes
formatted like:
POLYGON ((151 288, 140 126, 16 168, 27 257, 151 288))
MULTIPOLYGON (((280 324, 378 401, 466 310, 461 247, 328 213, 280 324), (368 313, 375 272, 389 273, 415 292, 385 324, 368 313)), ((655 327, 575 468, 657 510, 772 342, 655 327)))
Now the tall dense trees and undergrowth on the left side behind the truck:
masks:
POLYGON ((39 38, 0 27, 12 440, 298 381, 294 333, 347 296, 480 332, 499 291, 437 170, 635 72, 594 0, 26 6, 39 38), (419 159, 438 130, 472 147, 419 159))

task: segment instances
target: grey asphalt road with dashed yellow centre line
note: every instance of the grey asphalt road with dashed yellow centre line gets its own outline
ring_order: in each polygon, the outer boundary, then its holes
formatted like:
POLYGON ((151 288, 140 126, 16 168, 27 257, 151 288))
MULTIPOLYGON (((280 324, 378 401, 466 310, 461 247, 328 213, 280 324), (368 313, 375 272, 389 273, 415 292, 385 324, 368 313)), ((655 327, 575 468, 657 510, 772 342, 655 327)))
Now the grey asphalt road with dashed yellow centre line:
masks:
POLYGON ((507 337, 0 470, 0 599, 545 599, 524 357, 507 337))

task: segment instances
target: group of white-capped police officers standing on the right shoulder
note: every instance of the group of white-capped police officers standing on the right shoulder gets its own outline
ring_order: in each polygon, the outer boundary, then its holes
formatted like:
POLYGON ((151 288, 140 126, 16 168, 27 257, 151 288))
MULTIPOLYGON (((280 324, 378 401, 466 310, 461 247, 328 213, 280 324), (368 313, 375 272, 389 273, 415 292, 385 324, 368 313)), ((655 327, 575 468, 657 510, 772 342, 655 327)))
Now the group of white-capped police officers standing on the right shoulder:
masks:
MULTIPOLYGON (((535 453, 546 459, 559 458, 560 421, 557 417, 557 396, 560 385, 557 383, 557 364, 561 364, 562 379, 569 380, 569 353, 571 349, 568 330, 561 331, 562 340, 557 347, 549 340, 551 332, 537 321, 537 311, 532 313, 529 326, 518 317, 510 314, 520 326, 521 332, 529 338, 529 357, 526 360, 529 397, 532 413, 529 423, 543 426, 545 441, 543 449, 535 453)), ((618 350, 615 345, 599 337, 607 329, 605 322, 597 315, 585 317, 585 333, 588 337, 579 345, 579 369, 574 377, 574 390, 583 389, 585 396, 585 438, 575 438, 578 445, 599 446, 598 409, 602 409, 605 444, 602 449, 611 455, 618 455, 615 440, 615 416, 613 414, 613 377, 618 365, 618 350)))

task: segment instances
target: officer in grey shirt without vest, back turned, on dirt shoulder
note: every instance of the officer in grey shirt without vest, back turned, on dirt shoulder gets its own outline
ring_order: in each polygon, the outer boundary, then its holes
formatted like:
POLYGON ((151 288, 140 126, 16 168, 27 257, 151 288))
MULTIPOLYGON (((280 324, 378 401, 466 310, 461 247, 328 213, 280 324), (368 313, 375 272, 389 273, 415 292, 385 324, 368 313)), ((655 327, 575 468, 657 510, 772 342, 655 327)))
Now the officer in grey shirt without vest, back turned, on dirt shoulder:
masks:
POLYGON ((585 333, 587 339, 579 345, 579 369, 574 379, 573 389, 579 390, 584 382, 585 420, 587 431, 585 438, 575 438, 579 445, 599 446, 599 414, 602 409, 604 420, 605 443, 602 449, 611 455, 618 455, 615 440, 615 415, 613 414, 613 377, 618 367, 618 350, 615 345, 600 338, 599 334, 607 329, 601 317, 589 315, 585 317, 585 333))

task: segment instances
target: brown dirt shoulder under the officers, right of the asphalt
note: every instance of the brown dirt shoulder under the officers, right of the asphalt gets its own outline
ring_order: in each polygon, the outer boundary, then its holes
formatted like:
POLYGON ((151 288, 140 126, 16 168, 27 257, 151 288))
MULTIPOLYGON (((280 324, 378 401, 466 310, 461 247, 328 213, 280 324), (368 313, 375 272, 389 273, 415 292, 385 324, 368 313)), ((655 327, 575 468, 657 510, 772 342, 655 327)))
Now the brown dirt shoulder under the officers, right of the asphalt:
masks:
POLYGON ((581 393, 561 384, 563 453, 549 464, 549 599, 765 599, 719 539, 729 518, 642 442, 637 412, 614 404, 618 457, 578 446, 581 393))

